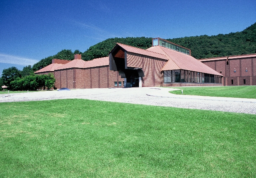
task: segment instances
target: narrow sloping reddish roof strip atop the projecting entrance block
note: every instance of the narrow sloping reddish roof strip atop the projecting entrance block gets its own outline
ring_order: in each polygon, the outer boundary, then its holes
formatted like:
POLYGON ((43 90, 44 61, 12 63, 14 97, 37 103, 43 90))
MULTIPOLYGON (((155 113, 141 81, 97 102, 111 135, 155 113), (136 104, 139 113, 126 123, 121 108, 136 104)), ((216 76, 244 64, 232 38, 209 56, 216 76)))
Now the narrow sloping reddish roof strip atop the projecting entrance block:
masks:
POLYGON ((123 49, 125 49, 125 51, 131 52, 131 53, 137 53, 137 54, 142 54, 142 55, 147 55, 147 56, 151 56, 151 57, 156 57, 156 58, 160 58, 160 59, 167 59, 167 57, 163 54, 160 53, 156 53, 153 51, 148 51, 146 49, 141 49, 138 47, 133 47, 133 46, 129 46, 129 45, 125 45, 125 44, 121 44, 121 43, 117 43, 120 47, 122 47, 123 49))

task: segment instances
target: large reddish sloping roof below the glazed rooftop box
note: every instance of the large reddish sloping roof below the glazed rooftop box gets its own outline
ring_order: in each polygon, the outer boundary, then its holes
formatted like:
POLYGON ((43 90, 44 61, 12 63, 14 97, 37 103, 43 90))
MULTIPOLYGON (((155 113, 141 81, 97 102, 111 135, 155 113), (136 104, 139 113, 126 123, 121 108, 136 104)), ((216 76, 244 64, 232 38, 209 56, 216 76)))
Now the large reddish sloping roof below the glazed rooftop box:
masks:
POLYGON ((157 51, 169 57, 170 60, 167 61, 167 63, 163 66, 161 71, 183 69, 188 71, 196 71, 196 72, 209 73, 214 75, 221 75, 220 73, 208 67, 204 63, 198 61, 196 58, 192 57, 191 55, 187 55, 187 54, 184 54, 166 47, 162 47, 162 46, 153 46, 147 50, 157 51))

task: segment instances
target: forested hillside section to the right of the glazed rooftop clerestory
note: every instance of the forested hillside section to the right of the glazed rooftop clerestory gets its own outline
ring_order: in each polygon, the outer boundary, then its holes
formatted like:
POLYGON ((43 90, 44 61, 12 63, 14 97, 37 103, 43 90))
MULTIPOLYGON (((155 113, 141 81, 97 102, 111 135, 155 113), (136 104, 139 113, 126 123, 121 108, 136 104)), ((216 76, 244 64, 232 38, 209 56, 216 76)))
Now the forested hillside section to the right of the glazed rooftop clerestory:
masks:
POLYGON ((242 32, 166 39, 191 49, 196 59, 256 53, 256 23, 242 32))

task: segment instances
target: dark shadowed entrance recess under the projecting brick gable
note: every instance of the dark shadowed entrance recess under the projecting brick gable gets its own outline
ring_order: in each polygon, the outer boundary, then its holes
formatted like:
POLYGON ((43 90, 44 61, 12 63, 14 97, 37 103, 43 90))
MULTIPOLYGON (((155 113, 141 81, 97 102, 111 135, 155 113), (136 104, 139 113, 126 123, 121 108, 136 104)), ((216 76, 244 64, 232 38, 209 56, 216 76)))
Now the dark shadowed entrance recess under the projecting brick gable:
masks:
POLYGON ((126 87, 139 87, 139 77, 144 77, 141 68, 127 67, 126 51, 117 46, 109 54, 109 68, 126 78, 126 87))

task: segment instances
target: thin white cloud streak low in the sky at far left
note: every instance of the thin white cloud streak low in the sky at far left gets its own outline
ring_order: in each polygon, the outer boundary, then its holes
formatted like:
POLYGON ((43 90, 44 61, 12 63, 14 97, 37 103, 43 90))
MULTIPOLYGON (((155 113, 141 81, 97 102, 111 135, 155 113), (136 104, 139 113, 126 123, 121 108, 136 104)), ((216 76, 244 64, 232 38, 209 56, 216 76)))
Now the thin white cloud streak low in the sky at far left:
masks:
POLYGON ((25 57, 0 53, 0 63, 10 63, 10 64, 26 66, 26 65, 33 65, 37 62, 38 60, 36 59, 28 59, 25 57))

